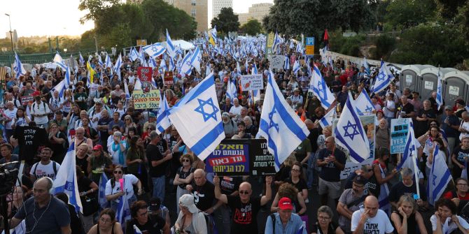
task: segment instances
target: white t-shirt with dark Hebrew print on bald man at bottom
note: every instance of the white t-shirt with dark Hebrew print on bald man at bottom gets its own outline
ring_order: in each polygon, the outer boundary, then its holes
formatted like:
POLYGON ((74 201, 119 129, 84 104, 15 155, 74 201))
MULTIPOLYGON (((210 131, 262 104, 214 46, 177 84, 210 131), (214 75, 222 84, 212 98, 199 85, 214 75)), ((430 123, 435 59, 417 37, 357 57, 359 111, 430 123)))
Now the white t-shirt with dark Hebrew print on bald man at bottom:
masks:
MULTIPOLYGON (((352 219, 351 219, 351 231, 356 231, 358 227, 358 222, 360 221, 360 217, 362 212, 365 212, 363 208, 353 212, 352 219)), ((394 228, 389 221, 386 212, 382 210, 378 210, 376 216, 368 219, 363 226, 363 233, 365 234, 384 234, 384 233, 393 233, 394 228)))

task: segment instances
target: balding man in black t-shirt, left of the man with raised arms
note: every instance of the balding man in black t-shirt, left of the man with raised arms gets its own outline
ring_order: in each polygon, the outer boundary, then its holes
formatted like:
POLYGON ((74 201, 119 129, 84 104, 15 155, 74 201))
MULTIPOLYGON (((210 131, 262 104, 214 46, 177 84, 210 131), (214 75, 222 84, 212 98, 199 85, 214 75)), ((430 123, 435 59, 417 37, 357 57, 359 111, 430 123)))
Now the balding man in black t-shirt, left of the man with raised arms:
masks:
POLYGON ((207 181, 202 169, 194 171, 194 180, 186 185, 186 189, 193 193, 195 206, 207 214, 213 213, 222 205, 221 201, 215 199, 214 184, 207 181))

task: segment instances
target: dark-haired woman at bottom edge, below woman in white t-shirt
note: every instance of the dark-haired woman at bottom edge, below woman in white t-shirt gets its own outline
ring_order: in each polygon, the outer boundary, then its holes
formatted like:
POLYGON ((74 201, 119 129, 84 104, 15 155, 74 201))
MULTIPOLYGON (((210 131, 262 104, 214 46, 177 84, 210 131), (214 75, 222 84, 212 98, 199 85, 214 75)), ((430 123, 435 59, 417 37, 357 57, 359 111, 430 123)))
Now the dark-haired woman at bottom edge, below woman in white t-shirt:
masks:
POLYGON ((124 234, 122 226, 116 220, 116 212, 106 208, 99 214, 98 223, 87 234, 124 234))

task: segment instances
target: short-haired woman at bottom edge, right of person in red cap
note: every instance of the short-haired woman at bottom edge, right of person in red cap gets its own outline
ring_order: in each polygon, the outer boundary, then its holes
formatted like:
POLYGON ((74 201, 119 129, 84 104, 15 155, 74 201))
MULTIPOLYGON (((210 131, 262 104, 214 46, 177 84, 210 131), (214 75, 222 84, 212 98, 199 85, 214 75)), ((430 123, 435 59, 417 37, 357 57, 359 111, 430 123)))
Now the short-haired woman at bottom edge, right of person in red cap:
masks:
POLYGON ((327 205, 323 205, 318 209, 318 221, 313 224, 311 234, 344 234, 342 228, 337 222, 332 221, 334 214, 327 205))

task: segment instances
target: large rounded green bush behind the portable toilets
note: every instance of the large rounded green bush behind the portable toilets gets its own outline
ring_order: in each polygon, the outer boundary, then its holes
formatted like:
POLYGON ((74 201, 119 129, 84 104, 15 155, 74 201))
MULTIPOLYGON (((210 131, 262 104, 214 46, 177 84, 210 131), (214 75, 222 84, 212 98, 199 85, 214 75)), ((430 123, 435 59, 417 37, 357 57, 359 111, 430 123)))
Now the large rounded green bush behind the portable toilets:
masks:
POLYGON ((391 54, 389 61, 398 64, 454 67, 469 54, 465 38, 454 31, 454 27, 435 23, 419 24, 407 29, 401 36, 397 51, 391 54))

